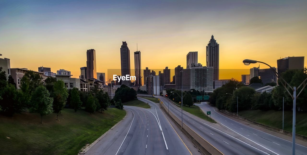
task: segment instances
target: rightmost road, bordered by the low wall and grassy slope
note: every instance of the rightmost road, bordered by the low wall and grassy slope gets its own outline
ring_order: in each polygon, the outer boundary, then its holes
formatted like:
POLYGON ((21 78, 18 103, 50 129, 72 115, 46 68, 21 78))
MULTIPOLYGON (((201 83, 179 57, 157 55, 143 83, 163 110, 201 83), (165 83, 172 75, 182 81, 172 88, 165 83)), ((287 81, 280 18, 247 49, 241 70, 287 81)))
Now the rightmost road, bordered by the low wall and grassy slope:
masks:
MULTIPOLYGON (((234 121, 215 111, 214 107, 208 105, 208 103, 202 102, 201 104, 195 104, 199 106, 204 112, 211 111, 211 118, 216 122, 240 135, 243 138, 248 139, 251 142, 255 142, 263 147, 274 152, 274 154, 292 154, 292 142, 282 138, 278 138, 274 135, 267 134, 263 131, 254 129, 250 126, 246 126, 242 123, 234 121)), ((307 153, 307 147, 296 144, 296 154, 303 155, 307 153)))

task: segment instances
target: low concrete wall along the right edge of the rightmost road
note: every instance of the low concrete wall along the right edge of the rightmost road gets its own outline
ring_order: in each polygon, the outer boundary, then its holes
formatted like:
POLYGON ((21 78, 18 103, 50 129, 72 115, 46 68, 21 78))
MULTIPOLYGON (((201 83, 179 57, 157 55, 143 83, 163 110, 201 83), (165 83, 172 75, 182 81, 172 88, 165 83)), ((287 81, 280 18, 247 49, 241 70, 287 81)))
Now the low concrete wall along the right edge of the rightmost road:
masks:
MULTIPOLYGON (((270 130, 273 130, 273 131, 277 131, 277 132, 280 132, 280 133, 292 136, 292 132, 285 131, 285 130, 282 130, 282 129, 278 129, 278 128, 275 128, 275 127, 272 127, 272 126, 268 126, 268 125, 265 125, 265 124, 261 124, 261 123, 255 122, 253 120, 247 119, 245 117, 242 117, 240 115, 237 116, 236 113, 229 112, 228 110, 220 110, 220 111, 223 112, 224 114, 233 116, 235 118, 239 118, 239 119, 241 119, 243 121, 246 121, 246 122, 258 125, 258 126, 262 126, 262 127, 266 128, 266 129, 270 129, 270 130)), ((295 134, 295 137, 307 141, 307 137, 306 136, 303 136, 303 135, 300 135, 300 134, 295 134)))

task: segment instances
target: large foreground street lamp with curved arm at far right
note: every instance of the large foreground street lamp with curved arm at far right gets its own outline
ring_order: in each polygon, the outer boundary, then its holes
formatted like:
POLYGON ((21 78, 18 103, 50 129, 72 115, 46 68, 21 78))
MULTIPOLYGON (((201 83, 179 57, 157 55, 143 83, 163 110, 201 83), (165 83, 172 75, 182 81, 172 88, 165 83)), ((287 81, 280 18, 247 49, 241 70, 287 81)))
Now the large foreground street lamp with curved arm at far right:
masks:
POLYGON ((264 62, 261 62, 261 61, 256 61, 256 60, 250 60, 250 59, 245 59, 243 60, 243 63, 245 65, 250 65, 250 64, 255 64, 255 63, 262 63, 262 64, 265 64, 267 66, 269 66, 273 72, 276 74, 276 76, 278 77, 278 79, 281 79, 282 81, 280 83, 282 83, 282 85, 285 87, 286 91, 289 93, 289 95, 292 97, 293 99, 293 122, 292 122, 292 155, 295 155, 295 115, 296 115, 296 98, 298 97, 298 95, 301 94, 301 92, 303 91, 303 89, 306 87, 307 83, 306 80, 307 78, 296 88, 296 87, 291 87, 289 83, 286 82, 286 80, 284 78, 282 78, 282 76, 280 76, 278 74, 278 72, 276 72, 276 70, 274 70, 270 65, 264 63, 264 62), (290 91, 287 89, 287 86, 289 88, 291 88, 291 90, 293 91, 293 95, 290 93, 290 91), (300 88, 301 86, 302 89, 301 91, 296 95, 296 89, 300 88))

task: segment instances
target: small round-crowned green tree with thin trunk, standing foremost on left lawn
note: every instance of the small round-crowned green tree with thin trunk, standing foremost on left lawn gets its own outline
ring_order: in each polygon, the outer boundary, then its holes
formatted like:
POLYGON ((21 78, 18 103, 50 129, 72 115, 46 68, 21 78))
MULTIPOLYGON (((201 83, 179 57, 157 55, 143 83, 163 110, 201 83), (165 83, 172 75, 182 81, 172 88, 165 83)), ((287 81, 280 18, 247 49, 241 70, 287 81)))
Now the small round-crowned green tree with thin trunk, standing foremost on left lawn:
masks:
POLYGON ((38 86, 33 92, 32 107, 30 112, 35 112, 41 115, 41 124, 43 124, 43 116, 52 113, 53 99, 50 97, 49 91, 45 86, 38 86))

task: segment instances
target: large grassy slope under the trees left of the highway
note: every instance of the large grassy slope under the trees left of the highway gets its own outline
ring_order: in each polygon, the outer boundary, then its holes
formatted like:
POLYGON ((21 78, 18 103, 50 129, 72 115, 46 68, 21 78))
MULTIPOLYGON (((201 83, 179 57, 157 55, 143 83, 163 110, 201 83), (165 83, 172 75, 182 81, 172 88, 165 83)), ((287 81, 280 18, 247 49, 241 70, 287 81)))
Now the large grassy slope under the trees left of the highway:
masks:
POLYGON ((109 108, 90 114, 63 109, 41 117, 24 112, 14 117, 0 115, 1 154, 77 154, 86 144, 94 142, 126 115, 125 110, 109 108))

